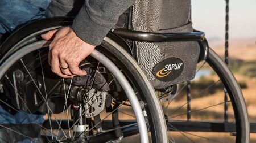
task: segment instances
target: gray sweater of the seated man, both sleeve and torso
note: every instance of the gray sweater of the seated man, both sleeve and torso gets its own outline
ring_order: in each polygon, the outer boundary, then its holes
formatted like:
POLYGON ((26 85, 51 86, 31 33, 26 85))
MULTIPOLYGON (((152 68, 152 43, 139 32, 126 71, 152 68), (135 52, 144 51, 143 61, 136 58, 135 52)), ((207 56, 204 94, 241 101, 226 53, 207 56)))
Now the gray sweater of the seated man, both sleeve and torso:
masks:
POLYGON ((134 0, 52 0, 47 16, 75 16, 72 28, 85 42, 100 45, 134 0), (78 12, 78 14, 77 14, 78 12))

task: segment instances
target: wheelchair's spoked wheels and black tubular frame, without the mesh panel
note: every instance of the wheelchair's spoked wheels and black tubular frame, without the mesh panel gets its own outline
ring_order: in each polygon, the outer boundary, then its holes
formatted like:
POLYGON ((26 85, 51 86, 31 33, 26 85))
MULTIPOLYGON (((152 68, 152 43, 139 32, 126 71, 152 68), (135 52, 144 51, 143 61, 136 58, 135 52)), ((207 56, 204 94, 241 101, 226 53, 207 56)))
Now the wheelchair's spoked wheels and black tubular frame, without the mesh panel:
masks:
MULTIPOLYGON (((72 21, 66 17, 35 21, 13 33, 0 48, 0 82, 12 101, 9 106, 16 112, 48 115, 43 124, 37 124, 41 128, 41 142, 195 142, 194 137, 202 142, 224 142, 204 136, 214 132, 217 136, 224 133, 233 142, 249 142, 249 120, 240 86, 222 59, 210 49, 203 32, 157 34, 113 29, 81 62, 80 68, 88 72, 87 76, 62 79, 51 72, 49 42, 43 41, 40 34, 69 26, 72 21), (198 41, 196 73, 207 65, 216 79, 183 102, 181 94, 190 97, 197 81, 154 89, 124 38, 147 42, 198 41), (192 114, 211 114, 214 107, 225 104, 217 102, 218 99, 212 105, 201 103, 201 109, 184 111, 196 99, 208 98, 204 93, 209 89, 225 89, 228 93, 229 120, 221 121, 219 116, 210 121, 204 117, 191 118, 192 114)), ((0 126, 10 129, 11 125, 0 126)), ((14 132, 24 139, 34 138, 14 132)))

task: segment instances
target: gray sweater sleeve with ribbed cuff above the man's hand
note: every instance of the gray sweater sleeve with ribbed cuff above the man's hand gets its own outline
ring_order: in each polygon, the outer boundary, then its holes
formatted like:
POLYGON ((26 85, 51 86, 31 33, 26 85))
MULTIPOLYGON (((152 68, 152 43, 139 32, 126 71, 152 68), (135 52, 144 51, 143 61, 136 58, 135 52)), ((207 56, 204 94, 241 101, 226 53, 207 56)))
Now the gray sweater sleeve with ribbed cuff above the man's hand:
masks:
POLYGON ((100 45, 114 27, 118 17, 133 4, 134 0, 85 0, 84 6, 73 21, 72 28, 83 41, 100 45))

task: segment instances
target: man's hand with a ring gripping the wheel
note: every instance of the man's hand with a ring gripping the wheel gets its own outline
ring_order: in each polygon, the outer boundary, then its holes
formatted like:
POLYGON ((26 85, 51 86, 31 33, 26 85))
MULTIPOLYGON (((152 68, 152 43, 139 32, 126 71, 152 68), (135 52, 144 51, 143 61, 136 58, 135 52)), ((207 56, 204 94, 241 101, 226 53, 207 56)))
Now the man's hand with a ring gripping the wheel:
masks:
POLYGON ((86 75, 86 71, 79 68, 79 63, 92 53, 95 46, 82 41, 70 27, 49 31, 41 37, 44 40, 54 37, 49 45, 52 72, 64 78, 86 75))

